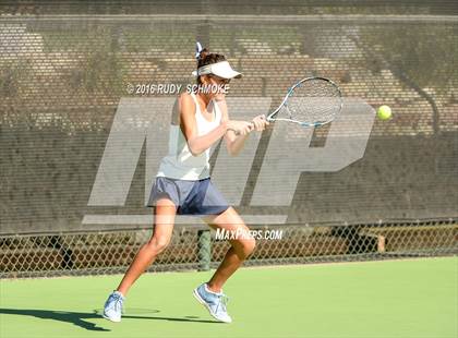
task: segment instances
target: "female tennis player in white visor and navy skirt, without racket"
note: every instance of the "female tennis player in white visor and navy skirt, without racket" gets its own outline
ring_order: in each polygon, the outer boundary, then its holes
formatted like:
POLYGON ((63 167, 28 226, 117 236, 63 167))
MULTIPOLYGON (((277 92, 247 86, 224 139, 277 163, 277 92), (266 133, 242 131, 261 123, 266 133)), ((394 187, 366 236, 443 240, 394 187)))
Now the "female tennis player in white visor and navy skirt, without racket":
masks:
MULTIPOLYGON (((144 244, 122 281, 105 303, 104 317, 121 321, 123 301, 134 281, 166 249, 172 236, 176 215, 201 216, 208 226, 224 231, 249 234, 249 229, 209 178, 209 149, 221 137, 230 154, 237 155, 252 131, 263 131, 265 116, 252 122, 230 120, 225 92, 231 79, 239 79, 222 55, 209 53, 197 43, 197 88, 183 93, 173 108, 169 153, 160 162, 148 206, 154 206, 154 233, 144 244)), ((221 264, 207 281, 194 289, 194 297, 217 321, 230 323, 222 286, 253 252, 253 237, 231 240, 221 264)))

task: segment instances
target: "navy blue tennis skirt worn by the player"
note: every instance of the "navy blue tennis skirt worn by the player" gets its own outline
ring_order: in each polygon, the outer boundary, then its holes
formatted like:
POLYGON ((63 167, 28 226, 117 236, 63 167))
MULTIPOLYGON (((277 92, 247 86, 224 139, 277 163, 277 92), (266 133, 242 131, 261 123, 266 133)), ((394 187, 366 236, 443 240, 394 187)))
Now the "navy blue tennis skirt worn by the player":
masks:
POLYGON ((157 177, 146 206, 154 207, 161 197, 173 202, 178 215, 219 215, 229 208, 209 178, 189 181, 157 177))

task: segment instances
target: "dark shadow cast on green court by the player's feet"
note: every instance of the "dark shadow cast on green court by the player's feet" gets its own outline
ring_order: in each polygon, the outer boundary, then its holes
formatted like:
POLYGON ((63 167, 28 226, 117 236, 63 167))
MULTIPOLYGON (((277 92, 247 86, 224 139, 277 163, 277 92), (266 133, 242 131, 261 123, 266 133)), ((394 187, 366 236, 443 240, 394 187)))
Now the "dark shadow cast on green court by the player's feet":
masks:
MULTIPOLYGON (((150 310, 152 312, 159 312, 158 310, 150 310)), ((40 319, 53 319, 59 322, 67 322, 85 328, 92 331, 110 331, 110 329, 97 326, 97 324, 84 321, 84 319, 100 319, 100 312, 94 310, 93 313, 87 312, 69 312, 69 311, 52 311, 52 310, 23 310, 23 309, 0 309, 0 314, 11 314, 21 316, 33 316, 40 319)), ((195 322, 195 323, 212 323, 220 324, 215 321, 198 319, 196 316, 184 316, 184 317, 160 317, 160 316, 136 316, 136 315, 123 315, 123 319, 153 319, 153 321, 170 321, 170 322, 195 322)))

